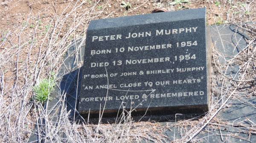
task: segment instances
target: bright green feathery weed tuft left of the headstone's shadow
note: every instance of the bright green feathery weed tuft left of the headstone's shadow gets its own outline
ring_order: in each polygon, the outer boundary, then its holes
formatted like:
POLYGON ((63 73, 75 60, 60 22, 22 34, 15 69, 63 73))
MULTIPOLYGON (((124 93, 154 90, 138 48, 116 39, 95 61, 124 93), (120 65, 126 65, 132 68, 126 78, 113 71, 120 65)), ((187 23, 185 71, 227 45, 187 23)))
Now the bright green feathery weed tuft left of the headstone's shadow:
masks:
POLYGON ((35 100, 41 103, 44 103, 45 101, 47 101, 50 93, 53 91, 54 86, 55 86, 54 74, 52 74, 49 79, 41 80, 34 87, 35 100))

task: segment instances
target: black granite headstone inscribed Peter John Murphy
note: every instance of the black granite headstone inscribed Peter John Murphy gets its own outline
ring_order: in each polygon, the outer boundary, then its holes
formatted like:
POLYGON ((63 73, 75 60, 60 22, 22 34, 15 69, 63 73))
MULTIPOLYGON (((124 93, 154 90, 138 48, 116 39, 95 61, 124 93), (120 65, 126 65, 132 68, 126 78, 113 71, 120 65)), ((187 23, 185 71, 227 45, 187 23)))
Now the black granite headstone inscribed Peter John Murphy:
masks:
POLYGON ((207 112, 205 14, 199 8, 91 21, 78 111, 207 112))

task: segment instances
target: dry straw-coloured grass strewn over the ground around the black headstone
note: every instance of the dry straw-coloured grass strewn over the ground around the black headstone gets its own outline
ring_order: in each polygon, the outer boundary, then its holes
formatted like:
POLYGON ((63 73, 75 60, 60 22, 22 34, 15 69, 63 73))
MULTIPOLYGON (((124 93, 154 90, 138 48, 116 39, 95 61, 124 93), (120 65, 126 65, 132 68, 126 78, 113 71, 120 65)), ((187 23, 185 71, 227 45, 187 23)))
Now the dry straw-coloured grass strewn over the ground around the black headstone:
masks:
MULTIPOLYGON (((197 1, 191 2, 193 4, 197 1)), ((219 62, 219 58, 223 55, 213 48, 211 107, 204 118, 180 120, 163 126, 161 123, 135 123, 127 111, 128 114, 122 114, 122 118, 115 124, 102 124, 100 121, 97 125, 88 124, 86 121, 77 123, 70 121, 70 111, 67 111, 66 104, 61 98, 54 106, 60 113, 55 121, 53 118, 55 116, 52 116, 54 113, 45 109, 42 104, 31 100, 34 94, 33 87, 40 79, 49 77, 50 73, 58 73, 72 39, 85 41, 88 22, 99 16, 102 17, 101 14, 108 6, 108 1, 105 1, 102 10, 96 11, 99 3, 100 1, 93 1, 90 7, 78 14, 78 9, 84 3, 77 2, 74 6, 72 5, 71 10, 64 9, 61 14, 56 14, 49 19, 43 30, 39 28, 40 14, 38 17, 29 14, 25 21, 27 23, 31 20, 36 21, 34 27, 25 22, 16 30, 2 31, 0 37, 0 142, 26 143, 30 135, 38 134, 39 140, 46 143, 127 143, 140 142, 142 139, 158 143, 194 143, 200 142, 195 136, 205 130, 206 126, 211 126, 213 129, 219 129, 220 126, 236 127, 248 136, 256 134, 256 124, 250 118, 233 123, 223 121, 216 116, 222 109, 228 108, 233 99, 239 99, 252 108, 256 107, 239 94, 244 93, 245 98, 256 94, 256 28, 255 25, 242 25, 245 21, 255 21, 254 1, 247 3, 244 7, 240 6, 236 0, 231 0, 231 3, 223 0, 221 7, 218 7, 221 10, 214 19, 215 23, 218 22, 219 17, 223 17, 224 22, 243 26, 242 28, 249 31, 251 38, 247 39, 246 48, 224 63, 219 62), (240 67, 239 79, 224 76, 227 68, 233 64, 238 64, 240 67), (221 83, 221 86, 218 86, 218 83, 221 83), (245 124, 245 122, 250 123, 245 124), (33 130, 34 126, 37 127, 36 132, 33 130), (175 128, 178 129, 176 132, 180 135, 179 138, 175 136, 170 138, 164 134, 175 128)), ((157 5, 159 1, 155 3, 157 5)), ((209 4, 208 11, 215 12, 215 8, 211 7, 214 6, 212 2, 204 3, 209 4)), ((160 5, 177 9, 177 6, 168 6, 165 1, 160 5)), ((131 9, 131 11, 134 10, 136 8, 131 9)), ((81 45, 77 47, 77 51, 80 48, 81 45)), ((66 95, 62 96, 65 98, 66 95)), ((249 140, 249 138, 233 135, 232 132, 219 136, 222 141, 226 140, 224 136, 249 140)))

